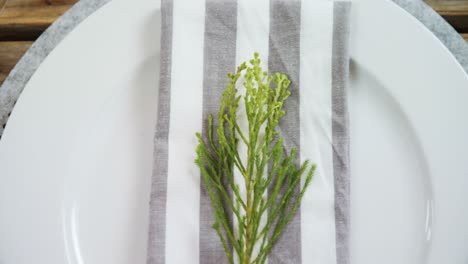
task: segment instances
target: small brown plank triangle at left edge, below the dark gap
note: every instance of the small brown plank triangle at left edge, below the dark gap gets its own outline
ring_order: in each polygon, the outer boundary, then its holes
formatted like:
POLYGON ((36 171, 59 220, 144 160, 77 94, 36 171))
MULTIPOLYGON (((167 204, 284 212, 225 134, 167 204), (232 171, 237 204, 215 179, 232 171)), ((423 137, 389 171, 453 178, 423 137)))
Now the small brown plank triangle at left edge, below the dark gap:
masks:
POLYGON ((0 85, 31 45, 31 41, 0 42, 0 85))

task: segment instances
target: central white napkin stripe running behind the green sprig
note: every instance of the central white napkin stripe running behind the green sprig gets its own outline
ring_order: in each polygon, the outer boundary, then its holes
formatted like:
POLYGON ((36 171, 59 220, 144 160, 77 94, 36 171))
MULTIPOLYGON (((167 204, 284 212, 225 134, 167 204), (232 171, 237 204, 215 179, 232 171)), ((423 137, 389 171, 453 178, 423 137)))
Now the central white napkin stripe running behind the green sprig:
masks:
MULTIPOLYGON (((254 52, 260 54, 262 68, 268 69, 268 37, 270 28, 270 1, 269 0, 238 0, 237 9, 237 49, 236 65, 253 58, 254 52)), ((242 84, 243 80, 239 80, 242 84)), ((239 92, 245 94, 245 88, 238 86, 239 92)), ((244 102, 240 102, 240 112, 238 115, 239 126, 242 131, 248 131, 248 123, 245 118, 244 102)), ((242 143, 239 145, 241 159, 247 159, 247 148, 242 143)), ((238 170, 234 171, 235 181, 239 186, 244 186, 244 181, 238 170)), ((243 188, 241 188, 243 189, 243 188)), ((242 190, 244 193, 245 190, 242 190)), ((234 217, 234 226, 237 227, 237 221, 234 217)), ((254 252, 254 254, 256 254, 254 252)), ((236 259, 236 263, 239 263, 236 259)))

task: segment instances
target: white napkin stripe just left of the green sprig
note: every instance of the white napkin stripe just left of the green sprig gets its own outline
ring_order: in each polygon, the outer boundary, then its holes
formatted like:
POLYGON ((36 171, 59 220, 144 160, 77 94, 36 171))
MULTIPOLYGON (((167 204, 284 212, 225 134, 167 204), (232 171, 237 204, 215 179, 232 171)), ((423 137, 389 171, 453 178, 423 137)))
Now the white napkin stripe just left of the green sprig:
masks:
POLYGON ((166 263, 198 263, 205 1, 174 0, 173 17, 166 263))

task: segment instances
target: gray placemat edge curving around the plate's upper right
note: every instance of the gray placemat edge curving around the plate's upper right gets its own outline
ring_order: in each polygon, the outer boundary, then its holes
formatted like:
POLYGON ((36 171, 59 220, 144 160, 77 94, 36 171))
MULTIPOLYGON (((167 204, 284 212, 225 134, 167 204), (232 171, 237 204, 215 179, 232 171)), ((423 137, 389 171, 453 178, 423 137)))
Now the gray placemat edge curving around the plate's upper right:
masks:
POLYGON ((422 0, 392 0, 399 7, 418 19, 455 56, 468 73, 468 43, 434 9, 422 0))

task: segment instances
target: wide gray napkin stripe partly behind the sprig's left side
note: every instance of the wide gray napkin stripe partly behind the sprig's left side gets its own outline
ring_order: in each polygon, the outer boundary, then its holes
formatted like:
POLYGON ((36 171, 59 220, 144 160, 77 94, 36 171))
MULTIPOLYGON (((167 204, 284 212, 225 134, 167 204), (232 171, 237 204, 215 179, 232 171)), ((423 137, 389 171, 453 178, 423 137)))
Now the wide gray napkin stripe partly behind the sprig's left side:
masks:
MULTIPOLYGON (((207 116, 218 113, 227 73, 236 68, 237 1, 207 0, 203 80, 203 135, 207 135, 207 116)), ((228 264, 229 261, 215 230, 213 205, 200 186, 200 260, 203 264, 228 264)))

